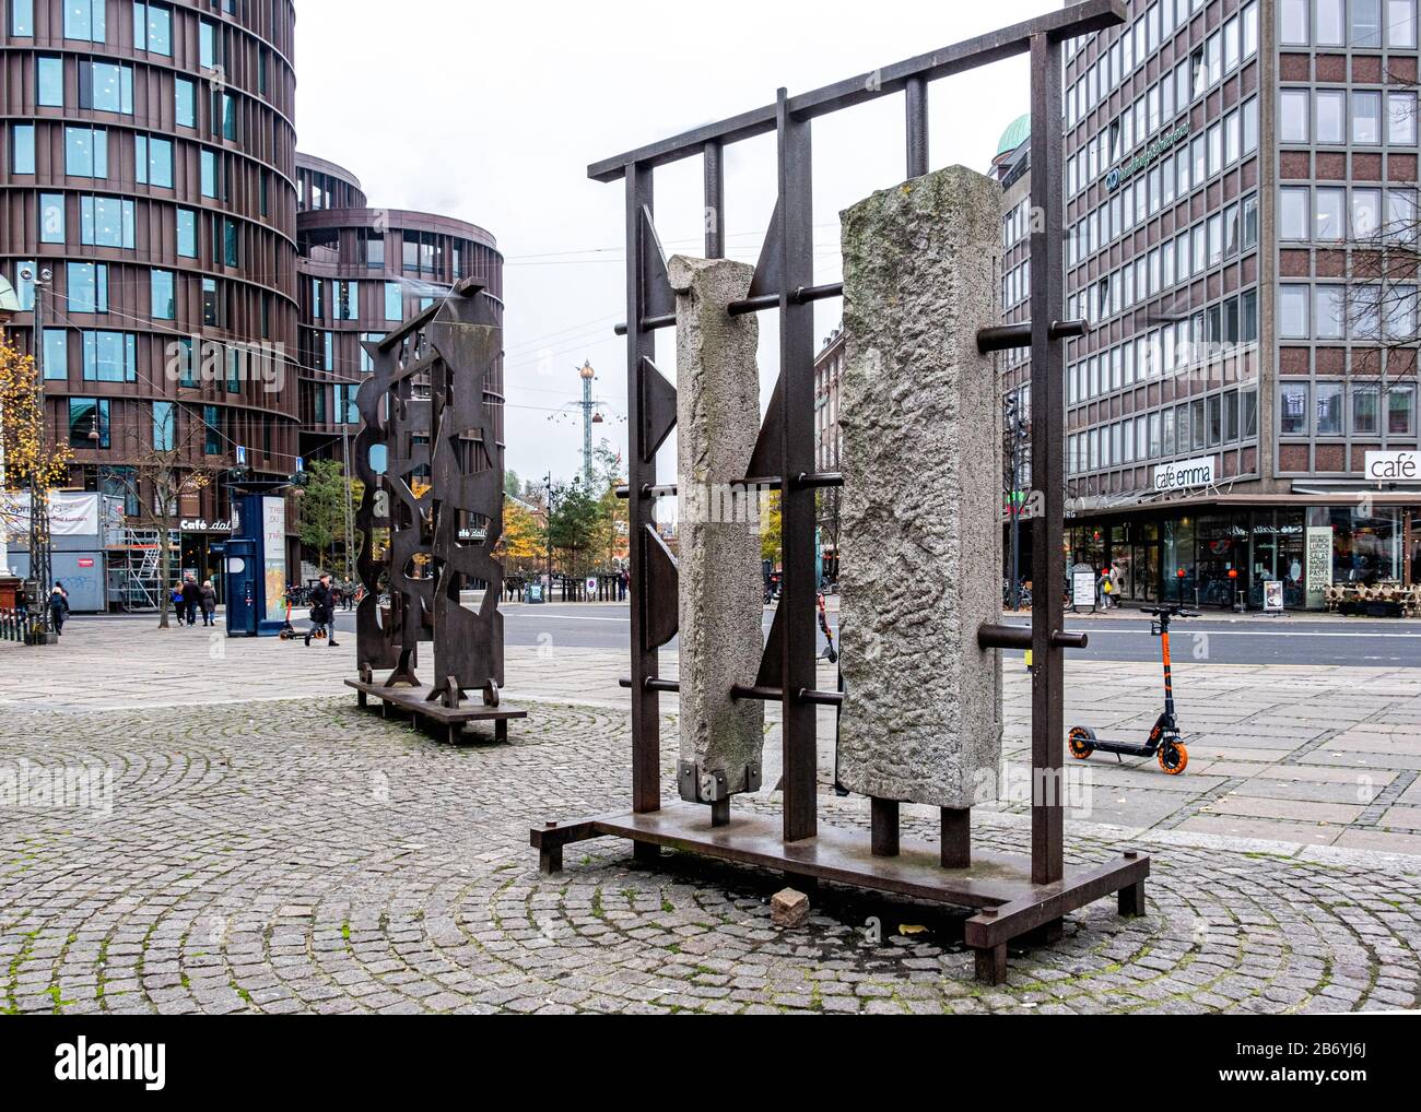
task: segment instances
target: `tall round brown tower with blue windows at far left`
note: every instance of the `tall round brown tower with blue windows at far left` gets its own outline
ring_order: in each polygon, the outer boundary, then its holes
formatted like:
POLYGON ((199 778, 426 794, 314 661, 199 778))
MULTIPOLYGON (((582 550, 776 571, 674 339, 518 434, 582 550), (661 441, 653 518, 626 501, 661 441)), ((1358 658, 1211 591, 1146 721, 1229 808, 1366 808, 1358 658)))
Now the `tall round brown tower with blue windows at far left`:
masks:
MULTIPOLYGON (((122 493, 121 469, 153 446, 219 474, 242 446, 253 473, 290 474, 293 3, 10 0, 3 20, 0 270, 31 348, 20 273, 53 276, 37 347, 71 486, 122 493)), ((219 479, 179 516, 215 523, 229 503, 219 479)), ((183 548, 209 569, 200 528, 183 548)))

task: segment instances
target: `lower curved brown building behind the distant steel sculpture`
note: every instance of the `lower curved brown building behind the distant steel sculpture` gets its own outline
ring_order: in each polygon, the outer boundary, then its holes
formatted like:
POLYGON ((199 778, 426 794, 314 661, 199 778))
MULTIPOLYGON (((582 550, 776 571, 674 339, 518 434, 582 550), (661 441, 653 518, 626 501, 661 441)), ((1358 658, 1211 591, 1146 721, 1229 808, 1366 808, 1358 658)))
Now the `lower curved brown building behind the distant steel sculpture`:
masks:
MULTIPOLYGON (((360 426, 355 391, 374 369, 361 341, 381 339, 469 277, 485 281, 502 318, 503 256, 477 224, 369 207, 350 170, 310 155, 296 160, 301 449, 341 459, 360 426)), ((496 379, 487 388, 502 393, 502 371, 496 379)))

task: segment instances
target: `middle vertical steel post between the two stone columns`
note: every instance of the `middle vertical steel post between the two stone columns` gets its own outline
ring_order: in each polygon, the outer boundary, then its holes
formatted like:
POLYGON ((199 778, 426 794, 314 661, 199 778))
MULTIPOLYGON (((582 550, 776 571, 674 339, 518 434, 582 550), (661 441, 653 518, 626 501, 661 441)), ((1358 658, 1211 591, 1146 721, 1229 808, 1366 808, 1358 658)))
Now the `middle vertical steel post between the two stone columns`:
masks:
POLYGON ((814 305, 793 291, 814 284, 814 212, 810 124, 776 107, 780 220, 780 524, 784 648, 780 663, 784 748, 784 841, 813 838, 817 817, 816 713, 797 697, 814 687, 814 491, 794 477, 814 470, 814 305))

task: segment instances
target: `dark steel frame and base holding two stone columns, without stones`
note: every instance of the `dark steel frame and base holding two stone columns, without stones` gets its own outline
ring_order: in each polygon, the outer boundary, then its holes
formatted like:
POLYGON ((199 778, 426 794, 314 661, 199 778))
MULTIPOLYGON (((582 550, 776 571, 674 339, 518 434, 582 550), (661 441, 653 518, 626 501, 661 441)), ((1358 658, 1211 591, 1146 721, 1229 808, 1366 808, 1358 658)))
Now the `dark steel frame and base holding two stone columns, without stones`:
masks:
MULTIPOLYGON (((1063 356, 1060 344, 1081 335, 1084 324, 1063 321, 1061 45, 1125 21, 1121 0, 1084 0, 1026 23, 922 54, 870 74, 796 97, 780 89, 774 104, 594 163, 588 176, 622 180, 627 217, 628 484, 631 531, 631 689, 632 811, 533 828, 544 872, 563 866, 563 846, 585 838, 631 838, 638 861, 655 861, 661 846, 760 865, 809 878, 980 909, 968 919, 965 939, 976 952, 978 977, 1006 976, 1007 940, 1050 942, 1061 916, 1111 892, 1123 915, 1144 913, 1150 859, 1125 851, 1106 865, 1067 871, 1063 845, 1064 650, 1084 635, 1061 631, 1066 581, 1063 523, 1063 356), (904 94, 907 176, 928 173, 928 84, 942 77, 1027 54, 1032 75, 1032 231, 1033 324, 989 328, 979 348, 1032 348, 1032 474, 1043 513, 1033 517, 1030 631, 983 626, 983 648, 1029 648, 1032 666, 1032 836, 1030 861, 979 855, 972 861, 965 811, 942 814, 939 852, 899 845, 898 804, 872 801, 871 845, 855 831, 818 827, 816 707, 840 694, 814 690, 814 491, 840 486, 834 473, 814 471, 814 317, 813 302, 843 293, 841 284, 814 285, 811 210, 811 124, 816 118, 880 97, 904 94), (696 804, 661 804, 662 692, 678 683, 659 676, 659 648, 676 633, 676 568, 654 527, 654 503, 675 494, 657 483, 657 450, 676 418, 675 386, 655 366, 655 332, 676 324, 675 295, 657 239, 652 176, 658 166, 702 158, 705 169, 705 254, 725 254, 723 153, 730 143, 773 132, 777 138, 777 203, 749 295, 732 314, 779 310, 780 378, 769 403, 746 484, 779 489, 783 528, 783 596, 753 687, 737 697, 777 700, 783 710, 783 814, 780 828, 763 817, 730 819, 729 801, 709 812, 696 804), (969 863, 971 862, 971 863, 969 863)), ((982 383, 996 389, 996 382, 982 383)))

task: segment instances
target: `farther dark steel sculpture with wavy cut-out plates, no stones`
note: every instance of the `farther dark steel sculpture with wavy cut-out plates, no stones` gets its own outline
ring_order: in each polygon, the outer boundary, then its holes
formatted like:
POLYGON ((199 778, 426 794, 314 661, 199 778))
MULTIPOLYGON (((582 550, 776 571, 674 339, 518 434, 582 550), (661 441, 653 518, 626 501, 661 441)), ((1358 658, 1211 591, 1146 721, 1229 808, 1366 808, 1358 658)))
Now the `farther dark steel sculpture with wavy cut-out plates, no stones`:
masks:
POLYGON ((360 704, 415 714, 458 738, 493 720, 497 738, 526 712, 503 686, 503 328, 475 278, 381 341, 355 396, 360 704), (378 463, 377 463, 378 460, 378 463), (433 646, 433 682, 415 673, 433 646), (375 672, 388 676, 377 679, 375 672), (473 699, 468 694, 476 692, 473 699), (477 700, 477 702, 476 702, 477 700))

